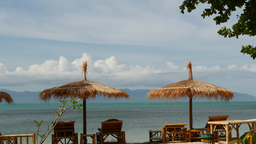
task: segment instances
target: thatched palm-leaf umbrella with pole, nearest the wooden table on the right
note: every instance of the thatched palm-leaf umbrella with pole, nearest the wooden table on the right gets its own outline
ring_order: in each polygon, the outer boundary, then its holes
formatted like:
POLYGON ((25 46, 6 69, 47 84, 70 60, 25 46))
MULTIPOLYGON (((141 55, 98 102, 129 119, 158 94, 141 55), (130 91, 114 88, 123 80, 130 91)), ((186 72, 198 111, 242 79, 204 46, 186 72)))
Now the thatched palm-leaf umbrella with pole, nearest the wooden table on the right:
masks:
POLYGON ((216 85, 208 84, 201 81, 193 80, 192 76, 192 64, 191 61, 187 63, 187 69, 189 69, 189 78, 185 81, 180 81, 174 84, 166 85, 164 87, 154 89, 150 91, 148 99, 160 99, 160 100, 177 100, 189 97, 189 128, 193 129, 193 117, 192 117, 192 99, 215 99, 217 101, 227 102, 233 98, 232 91, 221 88, 216 85))

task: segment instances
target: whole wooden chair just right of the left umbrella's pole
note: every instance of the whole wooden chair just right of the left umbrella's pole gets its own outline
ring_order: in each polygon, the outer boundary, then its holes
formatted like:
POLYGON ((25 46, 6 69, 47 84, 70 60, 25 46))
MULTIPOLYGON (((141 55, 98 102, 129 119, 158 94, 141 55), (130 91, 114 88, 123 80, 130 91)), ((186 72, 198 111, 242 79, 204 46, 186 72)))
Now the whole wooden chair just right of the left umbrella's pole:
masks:
POLYGON ((125 144, 125 132, 122 131, 122 120, 102 121, 101 132, 96 133, 97 144, 125 144), (111 136, 111 142, 107 138, 111 136))

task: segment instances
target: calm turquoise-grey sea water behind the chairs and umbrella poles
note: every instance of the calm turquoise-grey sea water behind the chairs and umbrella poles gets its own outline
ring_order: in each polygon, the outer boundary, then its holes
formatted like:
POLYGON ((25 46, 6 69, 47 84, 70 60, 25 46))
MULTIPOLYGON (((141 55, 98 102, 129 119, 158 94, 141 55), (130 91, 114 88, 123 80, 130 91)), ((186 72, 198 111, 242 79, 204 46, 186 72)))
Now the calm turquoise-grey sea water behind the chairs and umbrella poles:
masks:
MULTIPOLYGON (((56 118, 55 110, 61 104, 0 104, 0 132, 30 134, 37 132, 34 120, 51 123, 56 118)), ((164 124, 187 123, 189 128, 188 102, 145 102, 145 103, 87 103, 87 133, 98 132, 101 121, 123 120, 127 142, 149 141, 149 130, 160 130, 164 124)), ((256 119, 256 101, 245 102, 193 102, 193 127, 205 127, 209 116, 229 115, 228 120, 256 119)), ((75 120, 75 131, 83 132, 83 112, 69 109, 60 121, 75 120)), ((241 125, 240 135, 249 130, 241 125)), ((45 133, 47 125, 39 133, 45 133)), ((232 134, 235 134, 233 132, 232 134)), ((45 144, 51 144, 51 136, 45 144)))

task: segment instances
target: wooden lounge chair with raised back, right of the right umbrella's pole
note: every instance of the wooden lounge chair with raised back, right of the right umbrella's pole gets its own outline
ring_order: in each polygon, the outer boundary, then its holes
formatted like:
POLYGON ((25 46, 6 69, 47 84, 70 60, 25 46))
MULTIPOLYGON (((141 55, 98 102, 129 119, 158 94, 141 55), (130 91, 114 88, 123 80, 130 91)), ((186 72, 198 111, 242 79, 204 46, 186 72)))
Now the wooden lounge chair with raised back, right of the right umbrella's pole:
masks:
MULTIPOLYGON (((229 116, 214 116, 209 117, 208 121, 219 121, 219 120, 227 120, 229 116)), ((191 142, 194 140, 201 140, 201 135, 203 133, 210 131, 210 124, 206 123, 204 128, 193 128, 193 130, 188 130, 188 141, 191 142)), ((218 125, 215 129, 219 133, 218 138, 225 139, 226 138, 226 130, 223 128, 223 125, 218 125)), ((231 134, 231 133, 230 133, 231 134)))

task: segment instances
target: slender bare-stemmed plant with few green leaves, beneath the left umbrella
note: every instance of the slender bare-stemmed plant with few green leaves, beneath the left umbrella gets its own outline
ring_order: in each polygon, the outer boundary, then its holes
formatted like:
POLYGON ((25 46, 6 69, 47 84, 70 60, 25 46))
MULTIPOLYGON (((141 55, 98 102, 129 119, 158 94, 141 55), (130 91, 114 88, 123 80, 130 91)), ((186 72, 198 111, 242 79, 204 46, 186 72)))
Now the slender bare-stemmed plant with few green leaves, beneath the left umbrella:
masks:
MULTIPOLYGON (((56 126, 57 122, 58 122, 58 121, 61 119, 61 117, 63 116, 62 114, 63 114, 64 112, 66 112, 67 109, 73 107, 73 109, 77 108, 77 109, 79 109, 80 111, 82 111, 82 109, 81 109, 80 107, 83 106, 83 105, 82 105, 82 104, 77 105, 77 103, 78 103, 80 100, 81 100, 81 99, 75 100, 73 97, 72 97, 71 99, 66 100, 66 101, 60 100, 59 102, 61 102, 61 103, 63 104, 63 106, 62 106, 62 107, 60 106, 60 108, 59 108, 59 109, 61 110, 61 112, 59 112, 59 111, 57 111, 57 110, 55 111, 55 113, 58 115, 57 118, 52 122, 52 125, 51 125, 50 127, 49 127, 49 123, 45 121, 45 123, 46 123, 47 126, 48 126, 48 132, 47 132, 47 133, 44 133, 44 134, 42 134, 42 135, 41 135, 41 134, 38 134, 39 128, 40 128, 40 126, 42 126, 42 125, 44 124, 44 123, 43 123, 44 121, 42 120, 42 121, 38 122, 38 121, 34 120, 34 121, 36 122, 36 126, 37 126, 37 136, 39 135, 39 136, 41 137, 39 144, 43 144, 43 143, 44 143, 44 141, 46 140, 46 138, 47 138, 47 136, 49 135, 49 133, 54 129, 54 127, 56 126), (69 102, 69 101, 72 102, 72 105, 65 109, 64 106, 65 106, 65 104, 66 104, 67 102, 69 102)), ((37 137, 36 137, 36 141, 37 141, 37 144, 38 144, 37 137)))

